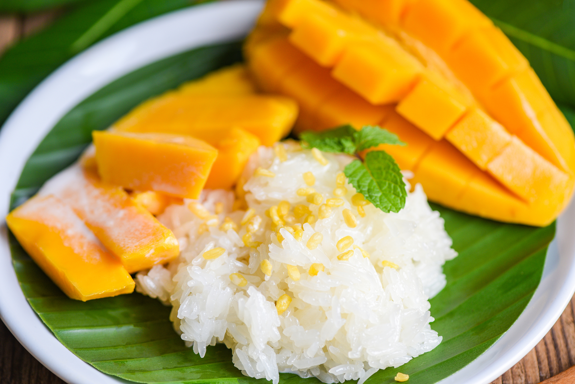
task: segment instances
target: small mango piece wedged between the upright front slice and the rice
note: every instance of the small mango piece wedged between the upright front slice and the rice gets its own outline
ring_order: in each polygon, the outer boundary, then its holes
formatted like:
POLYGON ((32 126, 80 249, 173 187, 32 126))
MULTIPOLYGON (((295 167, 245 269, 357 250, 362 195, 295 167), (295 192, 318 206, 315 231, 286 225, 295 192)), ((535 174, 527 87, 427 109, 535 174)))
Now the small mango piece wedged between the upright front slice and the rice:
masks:
POLYGON ((250 155, 260 145, 257 136, 240 128, 232 128, 216 147, 218 155, 208 176, 205 188, 231 189, 239 179, 250 155))

